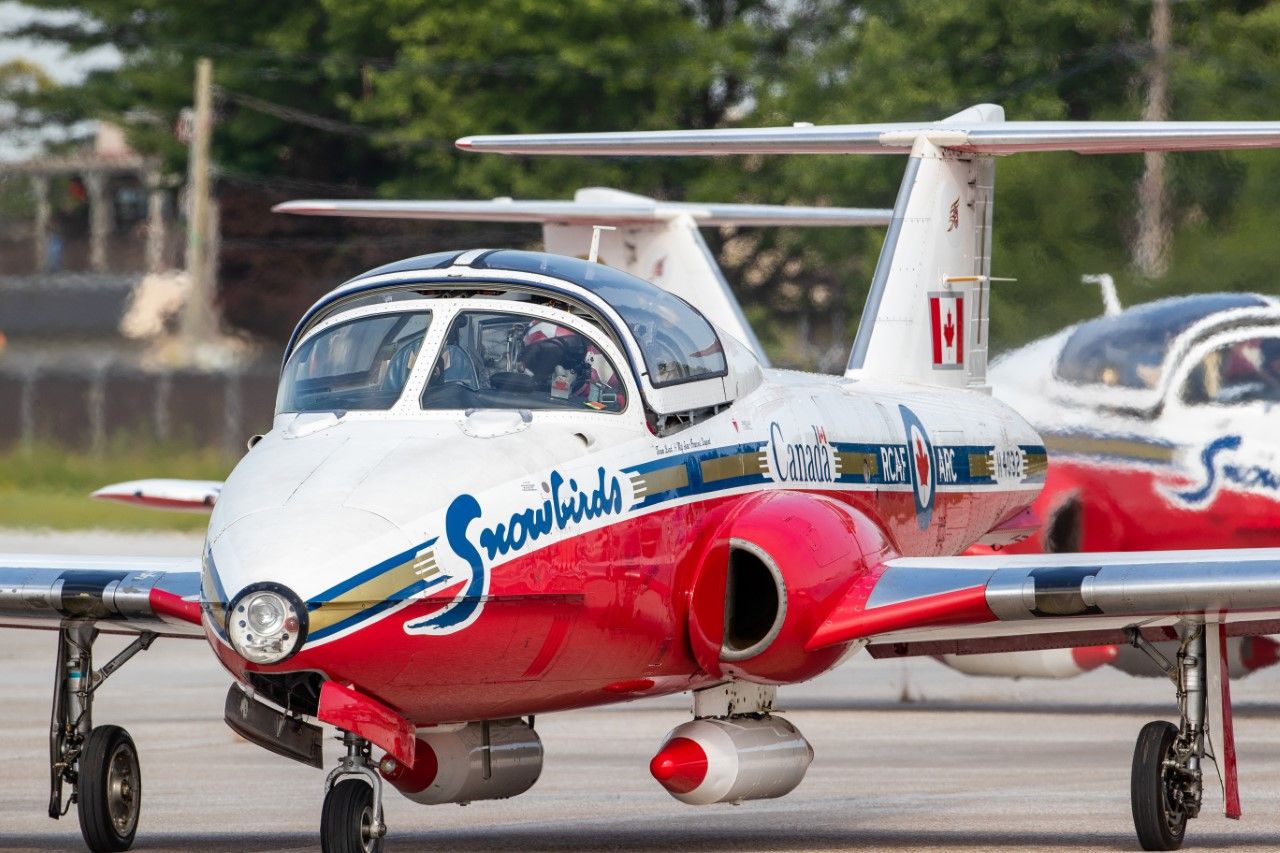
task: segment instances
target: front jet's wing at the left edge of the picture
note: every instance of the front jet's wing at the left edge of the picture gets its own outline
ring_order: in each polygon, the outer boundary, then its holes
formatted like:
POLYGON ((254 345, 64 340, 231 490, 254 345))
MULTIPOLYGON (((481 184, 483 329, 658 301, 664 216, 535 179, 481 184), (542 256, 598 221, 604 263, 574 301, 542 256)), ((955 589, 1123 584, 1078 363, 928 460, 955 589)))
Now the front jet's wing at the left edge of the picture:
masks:
POLYGON ((0 555, 0 626, 204 637, 198 557, 0 555))

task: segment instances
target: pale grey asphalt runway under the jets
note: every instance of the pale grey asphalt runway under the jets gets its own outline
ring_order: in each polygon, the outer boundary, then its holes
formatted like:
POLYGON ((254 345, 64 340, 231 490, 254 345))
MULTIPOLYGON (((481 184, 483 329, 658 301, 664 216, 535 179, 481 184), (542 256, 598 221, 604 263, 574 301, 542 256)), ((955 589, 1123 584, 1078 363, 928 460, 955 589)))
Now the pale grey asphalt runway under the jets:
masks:
MULTIPOLYGON (((0 532, 0 552, 195 553, 189 537, 0 532)), ((100 654, 113 638, 100 640, 100 654)), ((83 849, 45 816, 54 635, 0 630, 0 849, 83 849)), ((102 660, 101 657, 99 658, 102 660)), ((237 738, 229 676, 201 642, 160 640, 102 688, 143 768, 138 850, 319 848, 324 774, 237 738)), ((1244 818, 1207 795, 1184 849, 1280 849, 1280 671, 1233 684, 1244 818)), ((417 806, 388 793, 389 850, 1135 850, 1133 740, 1172 688, 1114 670, 1068 681, 973 679, 931 660, 858 657, 780 692, 817 752, 776 800, 690 807, 648 775, 687 717, 672 697, 538 717, 541 779, 511 800, 417 806)), ((338 744, 326 751, 332 766, 338 744)))

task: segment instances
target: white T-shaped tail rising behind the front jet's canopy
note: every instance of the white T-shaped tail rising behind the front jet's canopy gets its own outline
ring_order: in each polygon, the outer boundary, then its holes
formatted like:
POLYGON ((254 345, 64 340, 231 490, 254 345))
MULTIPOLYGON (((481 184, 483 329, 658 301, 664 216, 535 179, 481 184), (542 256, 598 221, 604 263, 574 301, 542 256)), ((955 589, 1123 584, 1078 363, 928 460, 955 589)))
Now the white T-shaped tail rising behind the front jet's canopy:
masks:
POLYGON ((703 225, 884 225, 891 211, 860 207, 790 207, 664 202, 620 190, 579 190, 573 201, 287 201, 276 213, 312 216, 366 216, 543 224, 547 251, 586 256, 593 225, 616 225, 600 234, 602 263, 648 279, 696 306, 712 323, 749 346, 768 364, 755 332, 703 241, 703 225))

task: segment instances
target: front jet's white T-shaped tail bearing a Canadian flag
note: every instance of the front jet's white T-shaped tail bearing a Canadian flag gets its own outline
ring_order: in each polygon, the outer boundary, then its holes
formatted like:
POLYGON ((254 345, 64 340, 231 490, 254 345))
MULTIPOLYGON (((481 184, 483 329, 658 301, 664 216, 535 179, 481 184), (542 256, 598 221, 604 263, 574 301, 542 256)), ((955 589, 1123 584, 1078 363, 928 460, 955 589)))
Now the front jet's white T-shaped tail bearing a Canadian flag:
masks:
POLYGON ((1280 147, 1280 122, 1005 122, 979 104, 934 123, 476 136, 547 155, 910 154, 846 375, 986 388, 993 155, 1280 147))

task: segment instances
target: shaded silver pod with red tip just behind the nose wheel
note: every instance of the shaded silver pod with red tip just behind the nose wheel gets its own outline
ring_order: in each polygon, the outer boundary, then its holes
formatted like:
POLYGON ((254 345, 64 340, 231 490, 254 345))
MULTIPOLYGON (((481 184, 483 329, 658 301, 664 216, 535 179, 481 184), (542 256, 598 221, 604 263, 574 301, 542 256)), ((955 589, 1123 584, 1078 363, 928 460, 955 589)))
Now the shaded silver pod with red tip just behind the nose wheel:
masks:
POLYGON ((507 799, 543 772, 543 742, 524 720, 468 722, 417 735, 412 767, 384 756, 378 772, 415 803, 507 799))

